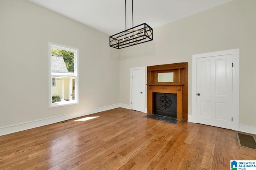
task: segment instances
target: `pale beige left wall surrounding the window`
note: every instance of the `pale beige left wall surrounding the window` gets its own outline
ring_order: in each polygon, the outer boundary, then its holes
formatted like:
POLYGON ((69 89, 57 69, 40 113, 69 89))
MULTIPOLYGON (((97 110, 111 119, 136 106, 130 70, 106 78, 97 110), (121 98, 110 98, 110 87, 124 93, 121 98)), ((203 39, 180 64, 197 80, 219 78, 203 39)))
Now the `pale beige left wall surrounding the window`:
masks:
POLYGON ((0 3, 0 127, 119 104, 109 35, 29 1, 0 3), (49 41, 79 49, 79 104, 48 108, 49 41))

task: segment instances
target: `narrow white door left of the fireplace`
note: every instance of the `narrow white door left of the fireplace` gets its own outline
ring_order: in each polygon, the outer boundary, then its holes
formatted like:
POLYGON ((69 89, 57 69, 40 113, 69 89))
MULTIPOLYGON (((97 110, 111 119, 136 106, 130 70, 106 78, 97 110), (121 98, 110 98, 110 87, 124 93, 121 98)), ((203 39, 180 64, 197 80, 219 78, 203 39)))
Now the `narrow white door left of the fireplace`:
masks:
POLYGON ((132 70, 132 110, 144 111, 144 69, 132 70))

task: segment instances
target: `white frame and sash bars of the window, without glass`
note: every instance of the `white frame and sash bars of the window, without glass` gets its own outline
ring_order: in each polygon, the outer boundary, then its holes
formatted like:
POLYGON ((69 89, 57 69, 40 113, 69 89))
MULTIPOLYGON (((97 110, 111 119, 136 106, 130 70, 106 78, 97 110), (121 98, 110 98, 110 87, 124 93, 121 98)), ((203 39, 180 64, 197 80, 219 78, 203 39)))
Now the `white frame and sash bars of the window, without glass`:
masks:
MULTIPOLYGON (((60 45, 52 42, 48 42, 48 55, 49 55, 49 108, 51 107, 59 107, 59 106, 67 106, 72 104, 78 104, 79 96, 78 96, 78 49, 74 47, 68 47, 66 45, 60 45), (70 100, 66 102, 56 102, 52 103, 52 48, 61 49, 65 51, 74 52, 74 73, 54 73, 54 75, 58 76, 74 76, 75 77, 75 100, 70 100)), ((56 81, 57 82, 57 81, 56 81)), ((57 83, 56 83, 57 85, 57 83)))

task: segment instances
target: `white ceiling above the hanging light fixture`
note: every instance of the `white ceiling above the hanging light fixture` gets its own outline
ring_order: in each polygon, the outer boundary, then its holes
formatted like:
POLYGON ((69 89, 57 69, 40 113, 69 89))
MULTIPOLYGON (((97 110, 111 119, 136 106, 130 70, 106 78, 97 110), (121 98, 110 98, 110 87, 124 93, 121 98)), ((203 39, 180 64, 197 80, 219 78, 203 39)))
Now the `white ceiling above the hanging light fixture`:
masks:
MULTIPOLYGON (((30 0, 108 35, 125 30, 124 0, 30 0)), ((208 10, 231 0, 134 0, 134 26, 150 27, 208 10)), ((126 1, 127 29, 132 27, 132 0, 126 1)))

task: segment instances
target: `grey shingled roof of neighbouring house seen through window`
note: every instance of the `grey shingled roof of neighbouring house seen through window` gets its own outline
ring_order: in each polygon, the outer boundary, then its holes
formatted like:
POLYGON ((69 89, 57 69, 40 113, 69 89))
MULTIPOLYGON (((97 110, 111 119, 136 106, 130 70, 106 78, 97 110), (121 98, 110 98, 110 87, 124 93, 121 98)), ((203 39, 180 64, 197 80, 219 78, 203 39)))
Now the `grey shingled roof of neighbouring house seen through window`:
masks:
POLYGON ((52 72, 69 73, 62 56, 52 55, 52 72))

